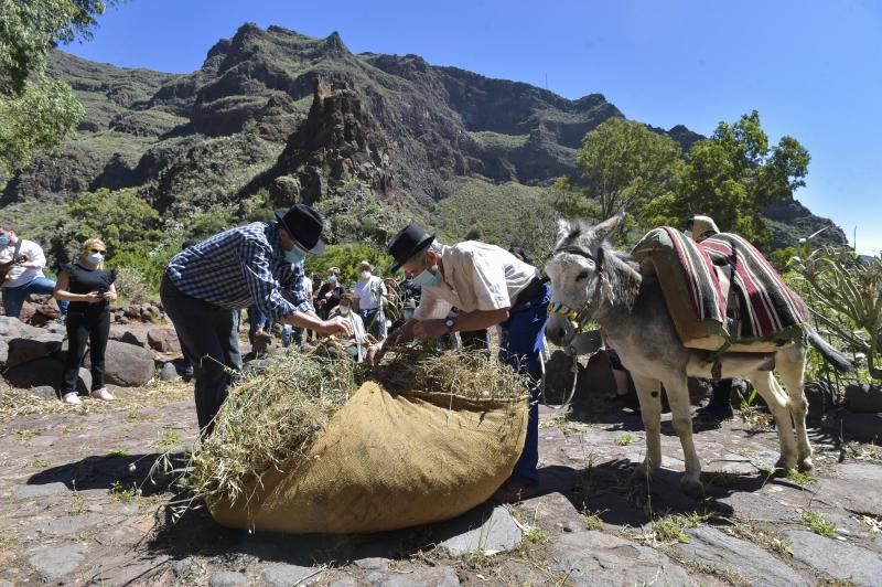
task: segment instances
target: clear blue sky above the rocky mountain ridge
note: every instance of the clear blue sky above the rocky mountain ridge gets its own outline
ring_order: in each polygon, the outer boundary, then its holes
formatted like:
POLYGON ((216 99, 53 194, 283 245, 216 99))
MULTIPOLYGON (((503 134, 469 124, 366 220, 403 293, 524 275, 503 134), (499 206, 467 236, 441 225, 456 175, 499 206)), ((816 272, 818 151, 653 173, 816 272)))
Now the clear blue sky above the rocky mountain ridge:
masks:
POLYGON ((191 72, 244 22, 352 51, 416 53, 569 98, 602 93, 628 118, 710 134, 760 110, 773 141, 811 153, 796 198, 858 250, 882 250, 882 2, 129 0, 67 51, 129 67, 191 72))

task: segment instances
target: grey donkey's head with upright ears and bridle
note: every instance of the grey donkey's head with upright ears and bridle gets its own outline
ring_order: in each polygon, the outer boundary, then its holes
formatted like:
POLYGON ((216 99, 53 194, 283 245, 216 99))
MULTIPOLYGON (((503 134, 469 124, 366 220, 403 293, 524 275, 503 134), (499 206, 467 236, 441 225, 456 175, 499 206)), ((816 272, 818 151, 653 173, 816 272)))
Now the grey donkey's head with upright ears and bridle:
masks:
MULTIPOLYGON (((551 279, 551 310, 577 322, 594 317, 611 286, 604 276, 606 259, 613 256, 606 243, 624 214, 619 214, 595 226, 582 221, 558 221, 558 236, 551 259, 545 271, 551 279)), ((612 300, 610 300, 612 301, 612 300)), ((572 334, 569 320, 552 318, 546 334, 555 344, 562 344, 572 334)))

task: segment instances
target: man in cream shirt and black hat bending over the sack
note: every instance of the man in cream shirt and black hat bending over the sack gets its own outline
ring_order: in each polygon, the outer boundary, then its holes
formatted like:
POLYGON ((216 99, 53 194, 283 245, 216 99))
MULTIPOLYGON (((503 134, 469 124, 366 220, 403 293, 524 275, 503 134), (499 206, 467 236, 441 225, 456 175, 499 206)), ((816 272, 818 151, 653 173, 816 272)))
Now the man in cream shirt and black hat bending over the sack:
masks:
POLYGON ((404 268, 422 287, 422 296, 413 318, 383 345, 372 346, 368 360, 379 359, 389 346, 415 337, 434 340, 450 332, 498 324, 504 333, 499 359, 528 373, 534 382, 527 439, 507 489, 537 485, 539 412, 535 382, 540 377, 539 351, 551 298, 548 284, 539 278, 536 267, 505 249, 477 241, 445 246, 416 223, 392 238, 389 254, 395 258, 392 270, 404 268), (458 309, 455 313, 453 308, 458 309))

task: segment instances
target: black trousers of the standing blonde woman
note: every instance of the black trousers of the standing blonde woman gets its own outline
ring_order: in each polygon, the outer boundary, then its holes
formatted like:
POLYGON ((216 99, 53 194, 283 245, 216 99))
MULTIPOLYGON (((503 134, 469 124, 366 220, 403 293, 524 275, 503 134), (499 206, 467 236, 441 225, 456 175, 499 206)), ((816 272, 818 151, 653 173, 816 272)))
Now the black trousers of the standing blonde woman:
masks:
POLYGON ((104 355, 109 335, 110 312, 67 314, 67 360, 62 377, 62 397, 76 391, 76 380, 86 354, 86 344, 89 345, 92 363, 92 391, 104 387, 104 355))

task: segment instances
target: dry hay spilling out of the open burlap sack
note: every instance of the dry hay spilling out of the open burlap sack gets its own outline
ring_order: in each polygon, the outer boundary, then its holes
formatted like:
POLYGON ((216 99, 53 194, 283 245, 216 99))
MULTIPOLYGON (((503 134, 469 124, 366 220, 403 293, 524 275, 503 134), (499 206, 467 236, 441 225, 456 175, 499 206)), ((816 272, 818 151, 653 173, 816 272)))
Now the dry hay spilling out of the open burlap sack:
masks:
POLYGON ((377 367, 295 352, 265 361, 261 373, 246 375, 230 389, 214 431, 197 446, 181 480, 191 495, 187 508, 197 498, 235 501, 261 472, 304 456, 366 381, 377 381, 392 393, 428 391, 487 399, 526 393, 524 376, 480 353, 405 350, 377 367))

